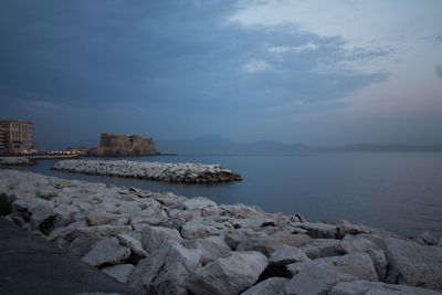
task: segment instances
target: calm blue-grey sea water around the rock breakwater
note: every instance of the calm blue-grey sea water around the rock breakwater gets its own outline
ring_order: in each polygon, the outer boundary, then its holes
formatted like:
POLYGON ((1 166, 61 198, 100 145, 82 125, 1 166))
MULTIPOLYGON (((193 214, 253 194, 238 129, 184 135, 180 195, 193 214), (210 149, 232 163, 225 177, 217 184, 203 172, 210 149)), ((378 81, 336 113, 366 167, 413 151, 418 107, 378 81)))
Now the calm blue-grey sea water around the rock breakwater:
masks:
POLYGON ((402 234, 442 235, 442 152, 337 152, 297 156, 161 156, 144 161, 221 164, 242 182, 180 185, 51 171, 54 160, 24 168, 50 176, 204 196, 256 204, 311 221, 346 219, 402 234))

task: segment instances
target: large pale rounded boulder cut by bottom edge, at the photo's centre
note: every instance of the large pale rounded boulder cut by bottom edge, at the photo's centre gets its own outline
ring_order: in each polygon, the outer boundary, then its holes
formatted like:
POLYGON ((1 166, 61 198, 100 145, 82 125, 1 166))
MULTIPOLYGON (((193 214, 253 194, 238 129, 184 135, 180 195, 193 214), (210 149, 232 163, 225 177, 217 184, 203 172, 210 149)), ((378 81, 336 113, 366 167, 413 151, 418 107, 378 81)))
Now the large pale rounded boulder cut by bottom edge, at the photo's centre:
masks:
POLYGON ((232 252, 198 270, 189 288, 194 294, 238 294, 253 285, 267 266, 259 252, 232 252))

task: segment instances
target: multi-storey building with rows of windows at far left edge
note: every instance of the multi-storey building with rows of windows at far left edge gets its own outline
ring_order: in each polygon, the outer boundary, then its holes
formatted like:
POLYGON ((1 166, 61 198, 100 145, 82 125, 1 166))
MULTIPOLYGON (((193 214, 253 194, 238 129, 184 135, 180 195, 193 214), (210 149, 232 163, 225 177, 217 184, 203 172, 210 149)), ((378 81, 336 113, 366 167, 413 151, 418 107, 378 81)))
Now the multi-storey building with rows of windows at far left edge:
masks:
POLYGON ((0 120, 0 148, 12 154, 34 149, 33 124, 22 120, 0 120))

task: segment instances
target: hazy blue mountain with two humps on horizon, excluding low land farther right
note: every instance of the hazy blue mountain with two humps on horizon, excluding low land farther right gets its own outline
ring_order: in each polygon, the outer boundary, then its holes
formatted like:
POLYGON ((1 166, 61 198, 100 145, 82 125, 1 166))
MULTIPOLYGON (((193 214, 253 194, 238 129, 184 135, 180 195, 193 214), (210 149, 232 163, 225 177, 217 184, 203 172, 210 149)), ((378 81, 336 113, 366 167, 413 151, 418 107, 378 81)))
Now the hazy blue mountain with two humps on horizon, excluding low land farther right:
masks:
POLYGON ((198 155, 280 155, 308 150, 304 145, 286 145, 272 140, 234 143, 219 135, 206 135, 179 141, 157 140, 157 149, 165 154, 198 155))

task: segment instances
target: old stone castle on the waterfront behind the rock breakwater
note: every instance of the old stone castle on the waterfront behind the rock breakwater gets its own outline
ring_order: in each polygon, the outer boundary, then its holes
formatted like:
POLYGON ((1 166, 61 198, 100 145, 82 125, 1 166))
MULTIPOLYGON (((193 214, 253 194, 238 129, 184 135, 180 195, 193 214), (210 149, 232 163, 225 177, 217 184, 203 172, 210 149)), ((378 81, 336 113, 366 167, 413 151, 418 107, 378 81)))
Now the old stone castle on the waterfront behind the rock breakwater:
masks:
POLYGON ((156 155, 152 138, 137 135, 102 134, 99 147, 90 151, 93 156, 148 156, 156 155))

